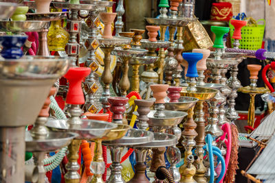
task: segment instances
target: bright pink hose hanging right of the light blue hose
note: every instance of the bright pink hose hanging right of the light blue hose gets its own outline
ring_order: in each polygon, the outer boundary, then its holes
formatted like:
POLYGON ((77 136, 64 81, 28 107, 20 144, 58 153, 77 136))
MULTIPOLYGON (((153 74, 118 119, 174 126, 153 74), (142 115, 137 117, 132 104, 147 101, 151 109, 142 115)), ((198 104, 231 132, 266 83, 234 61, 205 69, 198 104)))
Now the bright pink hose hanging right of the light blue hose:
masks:
POLYGON ((221 181, 219 183, 223 182, 226 171, 228 170, 228 164, 229 164, 230 154, 231 154, 231 143, 232 143, 232 133, 231 133, 230 124, 228 124, 228 123, 223 124, 223 126, 221 127, 221 130, 223 130, 224 133, 221 136, 221 138, 219 138, 217 141, 225 140, 226 156, 225 156, 225 173, 224 173, 223 178, 221 179, 221 181), (228 139, 225 139, 226 134, 228 135, 228 139))

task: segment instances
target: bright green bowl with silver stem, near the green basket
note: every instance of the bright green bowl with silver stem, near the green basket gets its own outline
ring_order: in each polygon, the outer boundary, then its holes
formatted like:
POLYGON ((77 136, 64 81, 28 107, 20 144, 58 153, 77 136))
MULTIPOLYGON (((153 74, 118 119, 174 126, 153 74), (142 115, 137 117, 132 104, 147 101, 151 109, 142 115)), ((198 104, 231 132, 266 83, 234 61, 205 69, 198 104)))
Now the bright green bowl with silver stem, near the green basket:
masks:
POLYGON ((218 26, 211 26, 211 31, 215 34, 216 38, 214 40, 213 48, 216 48, 214 53, 215 59, 220 60, 222 56, 223 49, 223 36, 224 34, 229 32, 229 27, 218 27, 218 26))

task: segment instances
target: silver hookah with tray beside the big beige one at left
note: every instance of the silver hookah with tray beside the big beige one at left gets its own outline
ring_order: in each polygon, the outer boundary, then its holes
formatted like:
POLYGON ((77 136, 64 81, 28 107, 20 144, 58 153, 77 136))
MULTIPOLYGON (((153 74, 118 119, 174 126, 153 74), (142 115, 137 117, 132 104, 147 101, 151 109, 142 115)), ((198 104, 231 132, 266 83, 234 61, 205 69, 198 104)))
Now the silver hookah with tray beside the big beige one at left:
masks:
MULTIPOLYGON (((56 88, 51 88, 50 95, 54 95, 56 88)), ((43 108, 39 112, 32 130, 25 132, 26 151, 32 152, 34 165, 26 165, 25 180, 30 182, 45 182, 44 158, 45 154, 50 151, 56 151, 71 143, 73 138, 78 134, 49 132, 45 123, 49 117, 50 95, 46 99, 43 108), (58 141, 58 143, 54 143, 58 141), (36 174, 38 173, 38 175, 36 174)))

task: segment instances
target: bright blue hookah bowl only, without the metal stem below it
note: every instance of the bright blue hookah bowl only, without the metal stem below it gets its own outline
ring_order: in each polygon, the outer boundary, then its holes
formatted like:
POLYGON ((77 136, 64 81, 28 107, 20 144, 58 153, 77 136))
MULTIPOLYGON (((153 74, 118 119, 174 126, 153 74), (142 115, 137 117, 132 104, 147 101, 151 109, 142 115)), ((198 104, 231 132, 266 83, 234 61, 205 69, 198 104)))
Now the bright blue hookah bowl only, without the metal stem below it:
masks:
POLYGON ((203 58, 203 53, 182 53, 182 57, 188 62, 186 77, 199 77, 197 62, 203 58))

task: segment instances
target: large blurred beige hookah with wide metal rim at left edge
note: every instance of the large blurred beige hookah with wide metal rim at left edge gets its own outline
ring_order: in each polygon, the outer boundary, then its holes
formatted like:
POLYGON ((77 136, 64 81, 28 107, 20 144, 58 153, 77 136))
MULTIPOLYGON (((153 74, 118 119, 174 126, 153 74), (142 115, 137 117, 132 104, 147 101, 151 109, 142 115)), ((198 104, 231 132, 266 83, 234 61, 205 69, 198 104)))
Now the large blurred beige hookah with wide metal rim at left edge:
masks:
POLYGON ((0 170, 8 172, 13 167, 3 182, 25 182, 25 126, 34 123, 52 84, 67 71, 69 61, 41 56, 0 60, 0 170), (28 108, 22 108, 25 103, 28 108))

